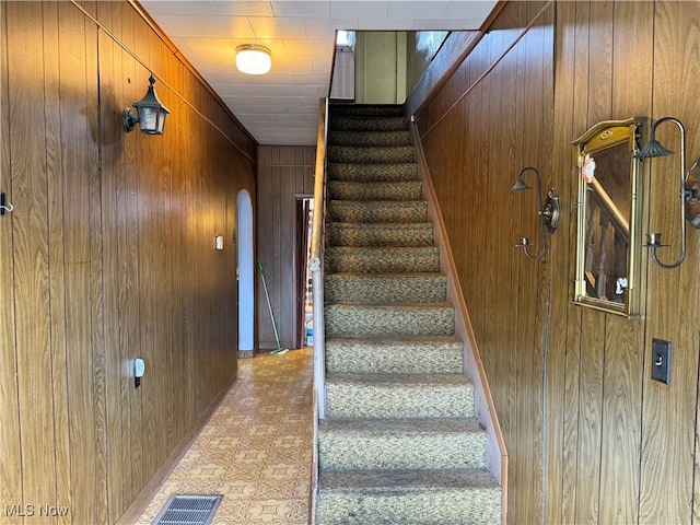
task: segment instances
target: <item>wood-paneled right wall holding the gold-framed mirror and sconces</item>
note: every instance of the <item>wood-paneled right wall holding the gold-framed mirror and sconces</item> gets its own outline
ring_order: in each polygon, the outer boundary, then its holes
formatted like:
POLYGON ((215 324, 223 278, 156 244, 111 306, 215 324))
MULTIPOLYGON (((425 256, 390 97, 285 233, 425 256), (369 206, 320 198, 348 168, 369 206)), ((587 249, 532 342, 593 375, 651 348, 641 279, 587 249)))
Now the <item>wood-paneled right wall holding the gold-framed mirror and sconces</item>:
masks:
MULTIPOLYGON (((699 515, 700 232, 689 229, 678 269, 641 253, 644 315, 571 303, 571 142, 599 120, 672 115, 686 124, 692 162, 699 30, 697 2, 510 2, 417 116, 509 448, 509 523, 699 515), (539 261, 514 248, 537 238, 535 195, 510 191, 524 166, 562 203, 539 261), (674 345, 668 386, 650 378, 654 337, 674 345)), ((677 150, 677 135, 661 129, 677 150)), ((645 163, 644 232, 674 238, 677 162, 645 163)))

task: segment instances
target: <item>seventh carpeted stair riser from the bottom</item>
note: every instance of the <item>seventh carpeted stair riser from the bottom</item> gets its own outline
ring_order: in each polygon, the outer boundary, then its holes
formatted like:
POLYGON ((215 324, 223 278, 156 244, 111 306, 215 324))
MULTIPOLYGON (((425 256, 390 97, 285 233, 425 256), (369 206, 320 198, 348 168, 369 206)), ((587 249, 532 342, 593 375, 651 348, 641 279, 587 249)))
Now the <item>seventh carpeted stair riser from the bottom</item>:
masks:
POLYGON ((328 247, 324 264, 330 272, 439 272, 440 252, 435 247, 410 250, 328 247))

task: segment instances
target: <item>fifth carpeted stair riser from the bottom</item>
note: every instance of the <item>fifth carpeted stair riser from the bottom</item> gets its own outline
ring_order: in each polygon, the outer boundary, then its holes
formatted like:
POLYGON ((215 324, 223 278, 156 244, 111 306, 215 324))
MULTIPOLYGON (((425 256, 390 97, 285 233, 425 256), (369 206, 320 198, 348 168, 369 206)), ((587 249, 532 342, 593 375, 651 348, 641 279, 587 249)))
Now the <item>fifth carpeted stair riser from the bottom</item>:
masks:
POLYGON ((450 336, 454 334, 451 307, 399 308, 327 305, 324 308, 326 337, 450 336))

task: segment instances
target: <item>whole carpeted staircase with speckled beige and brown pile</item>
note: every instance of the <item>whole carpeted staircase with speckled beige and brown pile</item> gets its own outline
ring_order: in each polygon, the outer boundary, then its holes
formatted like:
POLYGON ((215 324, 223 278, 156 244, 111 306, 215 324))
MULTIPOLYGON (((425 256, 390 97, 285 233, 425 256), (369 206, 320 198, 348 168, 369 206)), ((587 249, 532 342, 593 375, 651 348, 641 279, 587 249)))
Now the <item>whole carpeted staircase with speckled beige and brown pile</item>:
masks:
POLYGON ((497 524, 400 106, 331 105, 316 523, 497 524))

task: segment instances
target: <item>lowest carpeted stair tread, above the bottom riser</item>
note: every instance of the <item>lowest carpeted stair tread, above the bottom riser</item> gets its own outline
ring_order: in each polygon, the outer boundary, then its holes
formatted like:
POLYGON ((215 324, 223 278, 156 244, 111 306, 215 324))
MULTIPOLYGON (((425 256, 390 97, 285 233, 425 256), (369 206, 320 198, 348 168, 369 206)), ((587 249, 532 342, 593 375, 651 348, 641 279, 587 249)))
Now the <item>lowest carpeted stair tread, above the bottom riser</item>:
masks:
POLYGON ((483 468, 322 471, 323 492, 370 494, 433 490, 489 489, 501 492, 495 478, 483 468))

